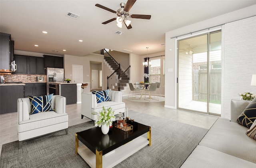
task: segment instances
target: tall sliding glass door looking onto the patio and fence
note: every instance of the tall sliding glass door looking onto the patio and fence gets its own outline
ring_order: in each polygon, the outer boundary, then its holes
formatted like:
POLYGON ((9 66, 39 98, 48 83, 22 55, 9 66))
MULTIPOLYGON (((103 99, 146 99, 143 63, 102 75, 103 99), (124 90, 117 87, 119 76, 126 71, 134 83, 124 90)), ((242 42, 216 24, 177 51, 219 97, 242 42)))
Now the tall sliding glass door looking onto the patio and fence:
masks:
POLYGON ((221 32, 178 40, 178 108, 220 114, 221 32))

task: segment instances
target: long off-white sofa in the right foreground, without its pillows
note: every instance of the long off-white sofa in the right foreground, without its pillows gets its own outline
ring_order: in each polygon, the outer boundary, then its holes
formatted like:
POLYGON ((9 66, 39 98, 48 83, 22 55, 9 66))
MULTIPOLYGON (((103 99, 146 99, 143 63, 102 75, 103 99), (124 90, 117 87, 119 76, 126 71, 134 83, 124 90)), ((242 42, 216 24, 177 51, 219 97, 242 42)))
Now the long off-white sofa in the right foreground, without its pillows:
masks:
POLYGON ((181 168, 256 168, 256 140, 236 122, 249 103, 231 100, 231 120, 218 118, 181 168))

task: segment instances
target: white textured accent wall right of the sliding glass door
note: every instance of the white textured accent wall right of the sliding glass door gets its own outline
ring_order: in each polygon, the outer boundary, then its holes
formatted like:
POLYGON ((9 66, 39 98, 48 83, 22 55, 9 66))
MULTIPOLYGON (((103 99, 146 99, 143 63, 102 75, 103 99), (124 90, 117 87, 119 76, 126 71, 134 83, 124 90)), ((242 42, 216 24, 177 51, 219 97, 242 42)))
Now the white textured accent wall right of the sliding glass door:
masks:
POLYGON ((256 86, 250 86, 252 74, 256 74, 256 16, 222 27, 222 117, 230 119, 230 101, 240 99, 238 93, 256 93, 256 86))

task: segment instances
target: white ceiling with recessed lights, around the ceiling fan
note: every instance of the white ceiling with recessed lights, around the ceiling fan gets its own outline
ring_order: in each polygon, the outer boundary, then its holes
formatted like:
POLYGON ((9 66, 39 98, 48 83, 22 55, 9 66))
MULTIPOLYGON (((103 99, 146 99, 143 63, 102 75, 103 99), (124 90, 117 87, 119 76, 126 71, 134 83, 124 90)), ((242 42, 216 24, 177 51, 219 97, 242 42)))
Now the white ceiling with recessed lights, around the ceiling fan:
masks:
POLYGON ((0 32, 12 35, 15 50, 85 56, 109 48, 145 55, 146 47, 148 54, 165 50, 160 44, 165 43, 166 32, 256 4, 256 0, 137 0, 129 13, 151 15, 150 20, 131 18, 129 30, 118 28, 116 21, 101 24, 116 14, 95 4, 116 11, 126 1, 0 0, 0 32), (68 11, 80 18, 66 16, 68 11))

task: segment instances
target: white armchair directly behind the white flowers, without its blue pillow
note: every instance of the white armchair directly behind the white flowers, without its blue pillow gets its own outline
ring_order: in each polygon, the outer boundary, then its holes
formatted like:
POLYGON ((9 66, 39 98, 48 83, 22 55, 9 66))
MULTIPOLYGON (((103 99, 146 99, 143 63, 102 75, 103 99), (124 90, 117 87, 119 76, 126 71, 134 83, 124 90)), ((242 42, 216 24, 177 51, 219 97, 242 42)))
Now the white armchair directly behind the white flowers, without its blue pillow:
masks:
POLYGON ((96 95, 92 94, 92 92, 82 93, 82 110, 81 110, 81 118, 84 116, 90 118, 91 120, 96 119, 96 115, 92 113, 100 112, 102 107, 104 108, 112 108, 114 111, 114 115, 119 112, 125 112, 125 103, 122 102, 122 92, 116 90, 109 90, 109 97, 111 101, 97 103, 96 95))

